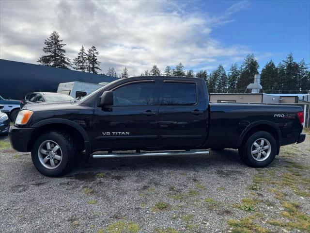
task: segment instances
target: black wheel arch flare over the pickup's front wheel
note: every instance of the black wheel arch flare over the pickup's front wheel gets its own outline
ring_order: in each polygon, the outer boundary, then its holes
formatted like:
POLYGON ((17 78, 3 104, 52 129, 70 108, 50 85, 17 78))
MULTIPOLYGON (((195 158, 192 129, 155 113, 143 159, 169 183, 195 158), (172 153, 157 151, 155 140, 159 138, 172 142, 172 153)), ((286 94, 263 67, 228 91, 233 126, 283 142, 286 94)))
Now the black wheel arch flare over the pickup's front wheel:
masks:
POLYGON ((38 138, 41 133, 50 130, 61 130, 69 133, 74 138, 74 140, 78 142, 77 145, 84 145, 84 147, 80 148, 84 148, 87 155, 91 153, 89 136, 86 131, 76 122, 68 119, 53 118, 36 122, 31 125, 31 128, 34 128, 34 130, 31 132, 30 140, 27 145, 27 149, 29 151, 31 150, 35 139, 38 138))

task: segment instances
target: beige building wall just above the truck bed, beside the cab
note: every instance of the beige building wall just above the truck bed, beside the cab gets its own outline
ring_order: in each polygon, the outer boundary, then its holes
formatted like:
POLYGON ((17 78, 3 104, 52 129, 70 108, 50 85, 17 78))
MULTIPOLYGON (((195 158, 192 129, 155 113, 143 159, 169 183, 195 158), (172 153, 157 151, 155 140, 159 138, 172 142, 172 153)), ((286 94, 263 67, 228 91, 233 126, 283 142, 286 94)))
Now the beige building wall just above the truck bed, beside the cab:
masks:
POLYGON ((263 94, 210 94, 209 100, 211 102, 222 101, 235 101, 241 103, 261 103, 263 94))

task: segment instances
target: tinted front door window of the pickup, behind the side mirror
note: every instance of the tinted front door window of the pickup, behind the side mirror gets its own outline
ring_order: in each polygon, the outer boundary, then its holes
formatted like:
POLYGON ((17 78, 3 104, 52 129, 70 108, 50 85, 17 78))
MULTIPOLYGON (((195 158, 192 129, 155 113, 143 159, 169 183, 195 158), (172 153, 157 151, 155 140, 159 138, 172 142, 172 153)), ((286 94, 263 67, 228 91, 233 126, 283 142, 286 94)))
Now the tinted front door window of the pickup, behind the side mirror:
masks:
POLYGON ((132 83, 113 91, 114 106, 141 106, 154 104, 155 83, 132 83))

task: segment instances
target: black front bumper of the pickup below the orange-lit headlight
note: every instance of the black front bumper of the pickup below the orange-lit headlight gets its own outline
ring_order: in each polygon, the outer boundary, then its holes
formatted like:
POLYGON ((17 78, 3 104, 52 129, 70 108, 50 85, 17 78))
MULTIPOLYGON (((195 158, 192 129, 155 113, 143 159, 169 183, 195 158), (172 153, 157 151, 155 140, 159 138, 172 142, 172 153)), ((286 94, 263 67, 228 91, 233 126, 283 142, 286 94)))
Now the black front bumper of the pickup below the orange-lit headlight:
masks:
POLYGON ((28 152, 28 142, 33 128, 10 127, 9 138, 12 147, 20 152, 28 152))

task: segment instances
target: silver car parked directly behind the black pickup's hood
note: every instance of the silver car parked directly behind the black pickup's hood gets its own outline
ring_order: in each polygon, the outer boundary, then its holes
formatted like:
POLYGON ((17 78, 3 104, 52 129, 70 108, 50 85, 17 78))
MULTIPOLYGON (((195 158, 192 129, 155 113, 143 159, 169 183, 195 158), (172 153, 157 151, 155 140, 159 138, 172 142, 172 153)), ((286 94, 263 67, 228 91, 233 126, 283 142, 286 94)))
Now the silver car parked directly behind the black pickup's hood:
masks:
POLYGON ((53 101, 67 101, 73 100, 71 96, 54 93, 54 92, 31 92, 25 96, 25 99, 20 102, 20 108, 24 107, 29 103, 42 103, 42 102, 53 102, 53 101))

